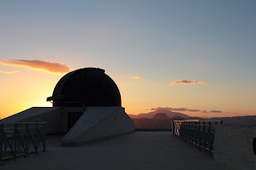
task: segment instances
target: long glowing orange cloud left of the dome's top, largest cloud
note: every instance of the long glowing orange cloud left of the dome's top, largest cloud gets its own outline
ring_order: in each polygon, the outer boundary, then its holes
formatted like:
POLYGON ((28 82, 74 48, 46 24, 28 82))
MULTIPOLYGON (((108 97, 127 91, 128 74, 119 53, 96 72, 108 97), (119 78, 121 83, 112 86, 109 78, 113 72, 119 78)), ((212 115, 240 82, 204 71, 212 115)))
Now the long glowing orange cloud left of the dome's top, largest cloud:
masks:
POLYGON ((0 60, 0 64, 39 69, 50 73, 68 73, 71 70, 65 64, 42 60, 0 60))

